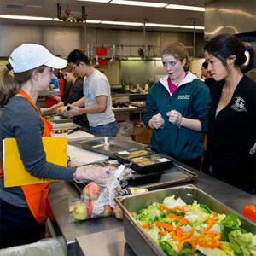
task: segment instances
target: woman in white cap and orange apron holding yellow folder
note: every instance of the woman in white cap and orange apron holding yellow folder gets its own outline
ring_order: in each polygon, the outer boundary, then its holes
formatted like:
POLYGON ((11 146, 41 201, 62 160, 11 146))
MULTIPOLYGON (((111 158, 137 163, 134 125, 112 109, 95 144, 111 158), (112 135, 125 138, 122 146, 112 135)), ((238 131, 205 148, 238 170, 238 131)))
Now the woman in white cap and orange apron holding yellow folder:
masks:
MULTIPOLYGON (((42 137, 50 136, 51 125, 35 104, 39 92, 49 90, 52 69, 66 66, 67 61, 42 45, 22 44, 12 52, 0 69, 1 142, 16 139, 23 165, 34 177, 70 182, 102 179, 108 175, 102 169, 57 166, 45 158, 42 137)), ((38 241, 48 218, 49 183, 5 188, 2 148, 0 160, 0 249, 38 241)))

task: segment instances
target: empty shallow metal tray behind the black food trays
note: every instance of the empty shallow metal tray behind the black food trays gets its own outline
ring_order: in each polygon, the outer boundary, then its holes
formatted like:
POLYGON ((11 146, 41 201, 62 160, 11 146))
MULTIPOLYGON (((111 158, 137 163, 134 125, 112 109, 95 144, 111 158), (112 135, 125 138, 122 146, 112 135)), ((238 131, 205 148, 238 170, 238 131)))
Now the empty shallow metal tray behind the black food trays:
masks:
POLYGON ((80 143, 80 145, 84 149, 100 154, 106 154, 114 159, 116 159, 115 154, 119 151, 147 147, 141 143, 128 142, 116 137, 97 137, 80 143))

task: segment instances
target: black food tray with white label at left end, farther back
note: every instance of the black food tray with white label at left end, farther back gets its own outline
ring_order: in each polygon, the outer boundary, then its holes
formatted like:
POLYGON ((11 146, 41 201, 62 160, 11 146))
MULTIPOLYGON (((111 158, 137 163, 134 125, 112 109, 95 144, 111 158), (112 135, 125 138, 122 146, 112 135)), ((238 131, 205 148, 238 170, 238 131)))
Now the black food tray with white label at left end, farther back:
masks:
POLYGON ((155 152, 147 148, 137 148, 137 149, 119 151, 115 155, 119 163, 124 164, 124 163, 128 163, 129 160, 131 160, 132 158, 150 155, 150 154, 155 154, 155 152))

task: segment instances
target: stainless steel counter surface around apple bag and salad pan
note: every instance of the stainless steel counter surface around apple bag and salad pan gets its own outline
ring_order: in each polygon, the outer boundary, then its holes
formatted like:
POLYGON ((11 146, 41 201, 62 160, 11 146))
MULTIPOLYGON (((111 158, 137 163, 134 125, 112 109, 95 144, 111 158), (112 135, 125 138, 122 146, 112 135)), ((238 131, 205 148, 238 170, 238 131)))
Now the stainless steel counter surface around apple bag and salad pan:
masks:
MULTIPOLYGON (((183 164, 180 165, 183 166, 183 164)), ((190 170, 196 172, 198 177, 189 183, 236 212, 241 213, 244 205, 256 203, 256 195, 249 195, 204 173, 191 168, 190 170)), ((186 183, 172 185, 172 187, 183 184, 186 183)), ((73 183, 50 184, 49 204, 56 218, 55 229, 59 229, 58 234, 67 241, 69 255, 134 255, 125 242, 122 221, 113 216, 69 223, 69 209, 77 200, 79 200, 79 192, 74 188, 73 183)))

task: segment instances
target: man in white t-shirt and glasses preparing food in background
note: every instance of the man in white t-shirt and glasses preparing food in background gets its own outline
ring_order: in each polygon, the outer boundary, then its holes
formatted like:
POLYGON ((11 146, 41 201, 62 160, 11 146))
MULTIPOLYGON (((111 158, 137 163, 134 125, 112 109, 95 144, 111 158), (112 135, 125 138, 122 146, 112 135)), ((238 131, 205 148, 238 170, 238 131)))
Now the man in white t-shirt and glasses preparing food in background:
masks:
POLYGON ((70 105, 68 115, 86 113, 90 131, 93 134, 116 136, 118 126, 112 111, 112 98, 107 77, 92 67, 87 55, 79 49, 74 49, 68 55, 67 61, 71 63, 75 73, 84 77, 84 97, 70 105))

